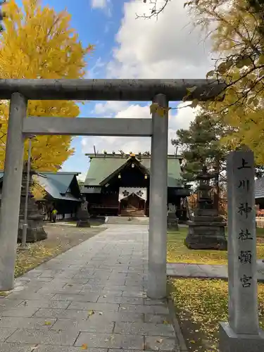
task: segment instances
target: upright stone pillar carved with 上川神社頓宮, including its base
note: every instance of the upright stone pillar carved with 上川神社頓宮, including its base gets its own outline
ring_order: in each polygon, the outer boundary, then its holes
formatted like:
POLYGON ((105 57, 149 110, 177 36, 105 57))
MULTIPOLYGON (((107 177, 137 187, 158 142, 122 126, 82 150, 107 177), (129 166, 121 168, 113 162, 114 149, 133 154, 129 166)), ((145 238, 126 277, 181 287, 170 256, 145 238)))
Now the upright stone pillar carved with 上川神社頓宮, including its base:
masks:
POLYGON ((220 323, 221 352, 264 351, 258 326, 256 227, 252 151, 227 158, 229 320, 220 323))

